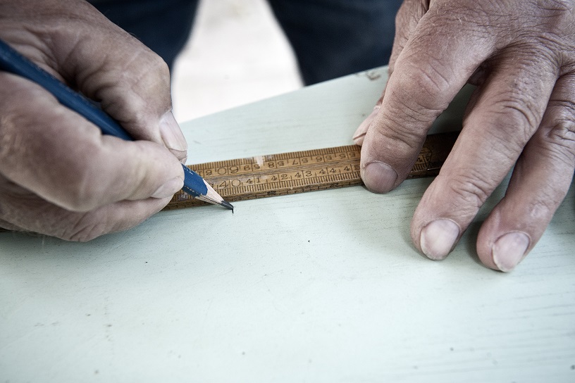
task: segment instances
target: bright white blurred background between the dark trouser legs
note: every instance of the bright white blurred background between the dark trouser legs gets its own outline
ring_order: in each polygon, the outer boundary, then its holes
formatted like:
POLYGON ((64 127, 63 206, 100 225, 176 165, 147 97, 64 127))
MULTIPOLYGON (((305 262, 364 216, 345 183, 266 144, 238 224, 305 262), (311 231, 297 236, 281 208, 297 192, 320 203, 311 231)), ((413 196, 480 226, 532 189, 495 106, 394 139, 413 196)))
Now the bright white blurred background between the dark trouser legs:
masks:
POLYGON ((203 0, 172 73, 183 123, 302 87, 295 56, 265 0, 203 0))

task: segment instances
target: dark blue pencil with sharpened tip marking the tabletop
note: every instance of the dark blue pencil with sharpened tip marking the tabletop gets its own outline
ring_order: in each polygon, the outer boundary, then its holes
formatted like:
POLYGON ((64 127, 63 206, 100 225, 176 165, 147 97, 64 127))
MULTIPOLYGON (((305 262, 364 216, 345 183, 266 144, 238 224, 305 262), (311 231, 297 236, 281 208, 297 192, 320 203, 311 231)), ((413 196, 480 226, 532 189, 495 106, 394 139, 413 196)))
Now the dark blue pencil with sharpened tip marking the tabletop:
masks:
MULTIPOLYGON (((25 77, 39 84, 54 95, 63 106, 70 108, 70 110, 82 115, 86 120, 99 127, 102 133, 128 141, 133 140, 130 134, 106 112, 97 108, 81 94, 74 92, 66 84, 58 81, 56 77, 39 68, 38 65, 19 54, 1 39, 0 70, 25 77)), ((182 165, 182 167, 184 168, 184 192, 196 199, 221 205, 233 211, 231 203, 225 201, 197 172, 190 170, 185 165, 182 165)))

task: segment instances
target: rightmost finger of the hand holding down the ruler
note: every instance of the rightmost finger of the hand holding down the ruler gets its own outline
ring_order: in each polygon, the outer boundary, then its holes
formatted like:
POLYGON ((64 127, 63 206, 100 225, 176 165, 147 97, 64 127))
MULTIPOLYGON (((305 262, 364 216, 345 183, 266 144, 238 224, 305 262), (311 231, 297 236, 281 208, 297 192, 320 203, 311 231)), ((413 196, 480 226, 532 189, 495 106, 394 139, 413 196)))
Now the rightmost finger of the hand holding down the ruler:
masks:
POLYGON ((490 268, 512 270, 536 245, 569 191, 575 169, 574 94, 575 74, 560 77, 505 197, 481 226, 477 253, 490 268))

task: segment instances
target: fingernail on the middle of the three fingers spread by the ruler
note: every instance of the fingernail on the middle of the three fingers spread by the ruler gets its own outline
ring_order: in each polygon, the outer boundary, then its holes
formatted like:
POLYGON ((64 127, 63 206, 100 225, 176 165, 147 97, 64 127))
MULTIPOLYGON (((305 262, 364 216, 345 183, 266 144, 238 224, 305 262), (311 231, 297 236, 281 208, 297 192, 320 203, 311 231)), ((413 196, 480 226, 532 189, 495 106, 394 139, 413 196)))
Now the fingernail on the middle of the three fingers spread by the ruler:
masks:
POLYGON ((459 225, 452 220, 440 219, 429 222, 421 230, 419 245, 427 258, 442 260, 455 246, 459 237, 459 225))

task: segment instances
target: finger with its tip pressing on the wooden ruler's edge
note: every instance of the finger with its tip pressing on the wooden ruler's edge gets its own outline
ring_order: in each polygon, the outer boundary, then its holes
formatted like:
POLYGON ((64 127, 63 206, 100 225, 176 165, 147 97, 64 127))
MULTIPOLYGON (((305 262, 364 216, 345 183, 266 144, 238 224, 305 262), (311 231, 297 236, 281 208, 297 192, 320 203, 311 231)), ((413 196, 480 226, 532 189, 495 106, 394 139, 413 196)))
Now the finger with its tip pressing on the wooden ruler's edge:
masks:
POLYGON ((480 63, 493 51, 485 27, 470 30, 446 45, 461 29, 445 4, 432 3, 397 56, 381 108, 361 149, 361 178, 372 192, 397 187, 414 165, 427 131, 480 63))

